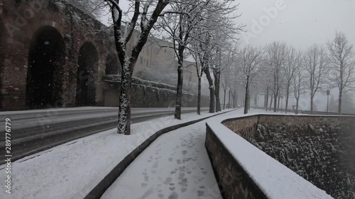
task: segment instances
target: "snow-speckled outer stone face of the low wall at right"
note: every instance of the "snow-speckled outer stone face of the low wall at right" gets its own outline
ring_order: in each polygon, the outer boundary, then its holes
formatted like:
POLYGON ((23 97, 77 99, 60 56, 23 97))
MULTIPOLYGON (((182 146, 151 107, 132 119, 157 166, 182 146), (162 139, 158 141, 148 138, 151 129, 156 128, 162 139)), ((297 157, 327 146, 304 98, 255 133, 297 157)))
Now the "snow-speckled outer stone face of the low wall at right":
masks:
POLYGON ((355 198, 355 117, 258 115, 223 124, 334 198, 355 198))

